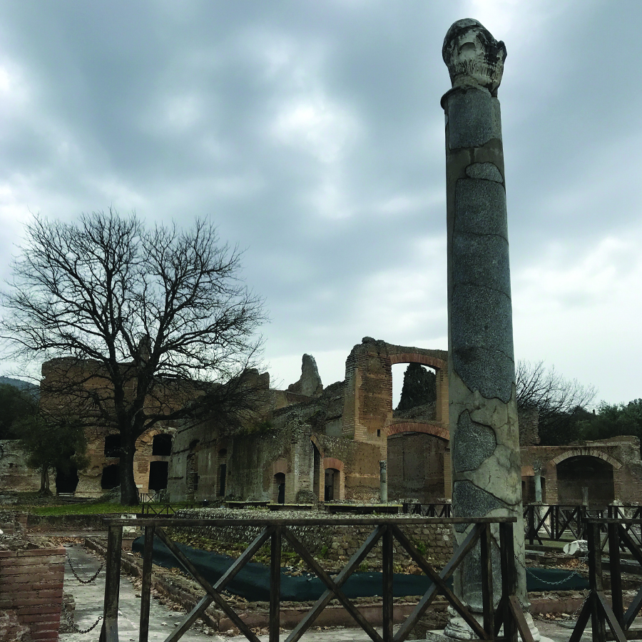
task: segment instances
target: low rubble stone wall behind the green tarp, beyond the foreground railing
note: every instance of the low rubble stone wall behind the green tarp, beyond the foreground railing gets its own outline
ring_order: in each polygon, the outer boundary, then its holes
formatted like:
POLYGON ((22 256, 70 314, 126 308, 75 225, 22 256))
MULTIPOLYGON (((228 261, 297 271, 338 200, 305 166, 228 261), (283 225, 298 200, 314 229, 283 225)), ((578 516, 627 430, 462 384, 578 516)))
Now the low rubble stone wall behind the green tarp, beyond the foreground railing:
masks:
MULTIPOLYGON (((223 517, 228 519, 270 519, 275 515, 260 510, 223 510, 223 509, 185 509, 178 511, 177 517, 185 519, 206 519, 223 517)), ((327 513, 278 513, 281 519, 296 517, 297 519, 323 519, 327 518, 327 513)), ((363 519, 364 516, 355 516, 353 519, 363 519)), ((342 519, 344 517, 342 516, 342 519)), ((350 519, 350 518, 347 518, 350 519)), ((452 527, 449 524, 407 524, 404 525, 404 519, 412 519, 412 516, 399 516, 399 527, 412 543, 417 546, 420 552, 441 569, 447 564, 452 557, 452 527)), ((367 536, 373 530, 372 526, 292 526, 292 531, 296 534, 306 549, 317 558, 327 562, 341 563, 350 559, 357 549, 363 544, 367 536)), ((248 526, 223 526, 223 527, 203 527, 194 529, 205 536, 218 541, 230 544, 250 544, 250 542, 260 533, 262 527, 248 526)), ((283 541, 283 550, 292 550, 287 542, 283 541)), ((400 544, 394 540, 394 564, 407 566, 412 563, 412 559, 405 552, 400 544)), ((372 549, 367 556, 367 567, 372 571, 381 570, 381 543, 372 549)))

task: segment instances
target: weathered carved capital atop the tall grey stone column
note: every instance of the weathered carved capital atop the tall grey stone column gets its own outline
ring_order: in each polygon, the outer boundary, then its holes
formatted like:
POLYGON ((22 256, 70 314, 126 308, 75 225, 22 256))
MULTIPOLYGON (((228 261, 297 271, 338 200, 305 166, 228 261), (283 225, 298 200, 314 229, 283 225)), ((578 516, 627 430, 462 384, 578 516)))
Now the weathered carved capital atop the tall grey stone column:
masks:
POLYGON ((455 22, 444 39, 442 56, 453 88, 484 87, 496 96, 504 73, 506 46, 480 22, 470 18, 455 22))

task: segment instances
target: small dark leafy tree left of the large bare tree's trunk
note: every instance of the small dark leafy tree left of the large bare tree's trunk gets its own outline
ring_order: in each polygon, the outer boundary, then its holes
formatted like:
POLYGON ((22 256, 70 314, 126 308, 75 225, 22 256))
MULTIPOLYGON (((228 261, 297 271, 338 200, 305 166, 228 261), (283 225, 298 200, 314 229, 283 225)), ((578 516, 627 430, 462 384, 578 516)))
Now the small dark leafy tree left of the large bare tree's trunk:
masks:
POLYGON ((26 454, 27 466, 40 471, 40 494, 51 495, 49 469, 69 474, 72 467, 88 464, 87 441, 81 422, 46 419, 42 414, 25 417, 16 425, 19 445, 26 454))

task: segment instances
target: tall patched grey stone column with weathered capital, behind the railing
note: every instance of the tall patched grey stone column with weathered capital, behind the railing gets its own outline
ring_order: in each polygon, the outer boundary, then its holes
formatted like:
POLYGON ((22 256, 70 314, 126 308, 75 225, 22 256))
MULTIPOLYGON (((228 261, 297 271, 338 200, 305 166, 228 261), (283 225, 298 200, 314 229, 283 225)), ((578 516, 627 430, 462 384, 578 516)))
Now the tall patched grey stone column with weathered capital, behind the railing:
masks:
MULTIPOLYGON (((452 506, 457 517, 516 516, 515 551, 523 564, 504 151, 497 100, 506 47, 478 21, 465 19, 449 29, 442 54, 452 81, 442 98, 452 506)), ((458 543, 466 531, 457 526, 458 543)), ((493 559, 499 591, 498 546, 493 559)), ((454 587, 472 611, 481 613, 479 546, 468 560, 460 566, 454 587)), ((518 572, 519 600, 526 607, 524 567, 518 566, 518 572)), ((472 631, 460 618, 452 618, 445 633, 467 639, 472 631)))

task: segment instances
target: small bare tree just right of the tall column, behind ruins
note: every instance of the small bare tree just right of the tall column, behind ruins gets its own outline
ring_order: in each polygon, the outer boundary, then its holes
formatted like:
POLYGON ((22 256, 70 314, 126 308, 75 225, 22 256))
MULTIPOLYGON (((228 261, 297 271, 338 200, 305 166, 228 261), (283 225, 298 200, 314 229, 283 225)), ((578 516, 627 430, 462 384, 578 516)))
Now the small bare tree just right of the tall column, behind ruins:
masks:
POLYGON ((519 360, 515 377, 517 407, 539 412, 542 444, 551 445, 549 437, 556 432, 556 442, 565 443, 565 437, 573 439, 574 436, 564 434, 564 430, 593 402, 597 394, 595 387, 580 384, 576 379, 565 379, 554 367, 547 369, 543 361, 531 364, 519 360))

